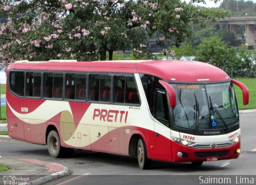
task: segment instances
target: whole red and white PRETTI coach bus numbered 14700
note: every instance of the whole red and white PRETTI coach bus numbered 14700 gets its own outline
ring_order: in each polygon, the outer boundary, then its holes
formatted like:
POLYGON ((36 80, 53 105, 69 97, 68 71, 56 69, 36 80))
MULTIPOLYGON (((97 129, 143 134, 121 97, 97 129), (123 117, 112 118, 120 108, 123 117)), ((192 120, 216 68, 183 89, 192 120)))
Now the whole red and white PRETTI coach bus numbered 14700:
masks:
POLYGON ((240 121, 233 85, 212 65, 175 60, 19 61, 8 66, 10 137, 47 145, 52 157, 74 149, 192 162, 235 159, 240 121))

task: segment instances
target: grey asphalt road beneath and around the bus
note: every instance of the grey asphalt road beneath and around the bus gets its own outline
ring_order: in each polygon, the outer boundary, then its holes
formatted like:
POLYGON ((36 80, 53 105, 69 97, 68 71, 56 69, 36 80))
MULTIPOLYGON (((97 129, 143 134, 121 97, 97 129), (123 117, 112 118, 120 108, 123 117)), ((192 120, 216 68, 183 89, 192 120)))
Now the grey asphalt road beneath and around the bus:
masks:
MULTIPOLYGON (((75 150, 70 158, 55 159, 48 154, 47 146, 34 145, 16 139, 0 138, 0 155, 8 158, 31 158, 58 163, 73 171, 73 175, 47 183, 55 184, 200 184, 199 178, 228 175, 233 180, 254 175, 256 183, 256 113, 242 114, 241 154, 238 159, 204 162, 199 167, 191 163, 153 161, 152 168, 141 170, 136 157, 75 150), (160 175, 160 176, 159 176, 160 175), (179 175, 179 176, 177 176, 179 175), (218 175, 218 176, 214 176, 218 175), (200 177, 204 176, 204 177, 200 177), (72 179, 72 180, 70 180, 72 179), (172 183, 170 183, 172 182, 172 183)), ((227 177, 227 176, 225 176, 227 177)), ((235 183, 234 183, 235 184, 235 183)))

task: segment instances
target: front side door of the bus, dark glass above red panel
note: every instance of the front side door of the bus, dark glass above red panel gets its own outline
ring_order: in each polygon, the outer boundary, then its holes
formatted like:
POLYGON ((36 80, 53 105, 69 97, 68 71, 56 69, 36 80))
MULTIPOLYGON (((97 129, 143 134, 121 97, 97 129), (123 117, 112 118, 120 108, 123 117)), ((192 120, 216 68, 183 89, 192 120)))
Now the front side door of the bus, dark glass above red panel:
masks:
POLYGON ((159 89, 154 92, 154 132, 150 138, 151 158, 172 161, 168 99, 166 91, 159 89))

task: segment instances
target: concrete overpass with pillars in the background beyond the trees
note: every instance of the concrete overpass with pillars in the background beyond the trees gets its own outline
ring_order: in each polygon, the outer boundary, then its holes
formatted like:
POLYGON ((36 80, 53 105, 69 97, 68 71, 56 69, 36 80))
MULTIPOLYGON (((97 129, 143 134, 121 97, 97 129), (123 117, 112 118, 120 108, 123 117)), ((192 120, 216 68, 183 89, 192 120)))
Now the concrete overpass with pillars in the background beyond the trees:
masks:
POLYGON ((252 49, 256 46, 255 36, 254 36, 254 25, 256 24, 256 16, 254 17, 230 17, 224 18, 216 22, 217 25, 228 25, 228 29, 235 34, 237 38, 236 27, 238 24, 245 25, 246 32, 246 45, 249 49, 252 49))

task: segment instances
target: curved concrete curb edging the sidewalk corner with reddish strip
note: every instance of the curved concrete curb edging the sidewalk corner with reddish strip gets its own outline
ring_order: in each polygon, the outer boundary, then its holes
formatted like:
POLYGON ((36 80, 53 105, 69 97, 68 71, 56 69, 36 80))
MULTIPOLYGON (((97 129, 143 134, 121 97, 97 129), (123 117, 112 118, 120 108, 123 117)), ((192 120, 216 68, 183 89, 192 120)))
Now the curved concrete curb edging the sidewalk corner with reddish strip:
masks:
MULTIPOLYGON (((52 164, 54 164, 54 163, 52 163, 52 164)), ((58 164, 58 165, 60 165, 60 164, 58 164)), ((60 166, 62 166, 62 165, 60 165, 60 166)), ((70 175, 70 171, 68 170, 68 168, 65 166, 62 166, 62 167, 64 168, 62 171, 52 173, 51 175, 46 175, 44 177, 40 177, 33 181, 29 181, 29 182, 27 182, 27 185, 41 185, 41 184, 47 183, 49 181, 59 179, 60 177, 70 175)))

